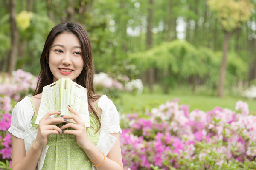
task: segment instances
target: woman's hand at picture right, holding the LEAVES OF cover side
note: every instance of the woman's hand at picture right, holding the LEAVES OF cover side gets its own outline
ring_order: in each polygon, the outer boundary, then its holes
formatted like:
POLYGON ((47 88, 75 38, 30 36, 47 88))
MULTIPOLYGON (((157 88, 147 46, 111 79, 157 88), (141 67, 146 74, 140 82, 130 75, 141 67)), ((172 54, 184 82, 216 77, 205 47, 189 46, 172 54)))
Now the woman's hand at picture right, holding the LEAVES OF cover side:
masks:
POLYGON ((63 125, 61 127, 62 133, 75 135, 76 142, 77 142, 78 146, 81 148, 86 148, 87 142, 90 142, 90 139, 88 138, 87 133, 86 133, 85 123, 84 123, 83 119, 81 118, 81 116, 79 115, 79 113, 75 111, 75 109, 68 106, 68 110, 71 113, 73 113, 73 115, 64 115, 63 118, 64 119, 73 119, 76 122, 76 124, 70 122, 70 123, 63 125), (71 127, 74 130, 64 130, 64 129, 67 129, 68 127, 71 127))

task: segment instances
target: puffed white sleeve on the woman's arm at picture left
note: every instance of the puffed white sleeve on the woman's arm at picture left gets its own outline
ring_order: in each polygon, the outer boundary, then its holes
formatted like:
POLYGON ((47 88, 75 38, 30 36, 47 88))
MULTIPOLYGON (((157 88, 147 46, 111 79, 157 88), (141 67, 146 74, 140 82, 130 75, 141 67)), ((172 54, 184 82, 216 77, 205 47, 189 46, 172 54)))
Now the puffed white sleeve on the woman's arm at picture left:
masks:
POLYGON ((33 107, 31 105, 29 97, 26 96, 13 108, 11 127, 8 129, 8 131, 13 136, 24 139, 24 132, 33 114, 33 107))

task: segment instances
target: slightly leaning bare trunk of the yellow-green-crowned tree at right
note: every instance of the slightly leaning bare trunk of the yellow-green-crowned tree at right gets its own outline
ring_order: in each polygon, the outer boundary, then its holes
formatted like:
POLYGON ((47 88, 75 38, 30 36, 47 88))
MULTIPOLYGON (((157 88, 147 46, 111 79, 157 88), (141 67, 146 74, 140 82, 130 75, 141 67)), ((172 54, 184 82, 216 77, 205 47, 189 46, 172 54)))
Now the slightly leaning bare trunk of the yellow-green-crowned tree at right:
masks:
MULTIPOLYGON (((233 31, 234 32, 234 31, 233 31)), ((225 76, 226 76, 226 70, 227 70, 227 53, 230 43, 230 38, 233 34, 233 32, 226 32, 224 31, 224 41, 222 45, 222 61, 221 61, 221 67, 219 72, 219 82, 218 82, 218 96, 223 97, 224 95, 224 83, 225 83, 225 76)))

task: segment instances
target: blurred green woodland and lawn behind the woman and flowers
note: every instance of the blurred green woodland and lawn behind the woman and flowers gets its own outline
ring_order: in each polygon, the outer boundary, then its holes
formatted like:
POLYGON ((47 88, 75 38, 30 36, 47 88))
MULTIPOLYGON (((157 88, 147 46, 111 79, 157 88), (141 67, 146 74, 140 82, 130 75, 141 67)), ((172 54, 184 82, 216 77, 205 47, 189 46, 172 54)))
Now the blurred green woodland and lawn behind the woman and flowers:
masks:
POLYGON ((256 0, 0 0, 0 5, 2 84, 3 75, 17 69, 38 75, 49 31, 72 21, 90 36, 96 80, 102 82, 97 92, 108 94, 121 112, 175 98, 191 110, 234 109, 244 100, 256 111, 256 0))

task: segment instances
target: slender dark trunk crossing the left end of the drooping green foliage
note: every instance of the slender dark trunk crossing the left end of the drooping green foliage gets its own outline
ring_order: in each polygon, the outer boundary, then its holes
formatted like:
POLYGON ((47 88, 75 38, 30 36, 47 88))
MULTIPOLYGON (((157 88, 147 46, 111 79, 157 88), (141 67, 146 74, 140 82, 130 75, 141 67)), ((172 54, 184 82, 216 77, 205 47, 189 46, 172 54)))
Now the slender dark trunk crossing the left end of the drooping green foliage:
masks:
MULTIPOLYGON (((148 7, 148 18, 147 18, 148 26, 147 26, 147 37, 146 37, 146 48, 152 48, 153 38, 152 38, 152 28, 153 28, 153 0, 149 0, 148 7)), ((149 69, 149 90, 153 92, 153 84, 154 84, 154 68, 153 66, 149 69)))

